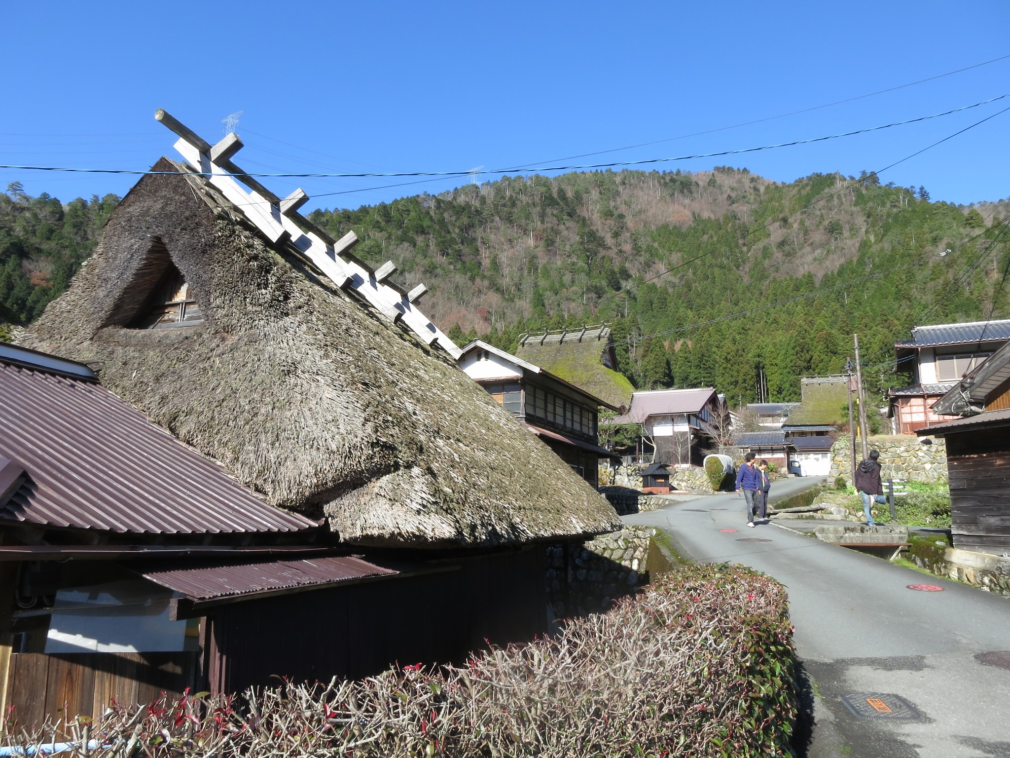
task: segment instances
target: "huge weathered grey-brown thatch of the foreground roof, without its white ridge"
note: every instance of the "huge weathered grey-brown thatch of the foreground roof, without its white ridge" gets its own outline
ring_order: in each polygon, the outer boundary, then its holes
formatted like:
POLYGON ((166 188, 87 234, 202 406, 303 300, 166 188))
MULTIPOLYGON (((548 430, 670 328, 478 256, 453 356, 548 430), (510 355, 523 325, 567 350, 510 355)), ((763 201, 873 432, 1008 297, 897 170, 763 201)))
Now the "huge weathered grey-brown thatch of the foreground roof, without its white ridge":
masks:
MULTIPOLYGON (((182 171, 168 159, 155 170, 182 171)), ((153 420, 272 503, 324 513, 349 543, 501 545, 619 528, 447 357, 293 249, 271 248, 192 175, 144 177, 21 343, 97 362, 153 420), (170 265, 203 322, 131 327, 170 265)))

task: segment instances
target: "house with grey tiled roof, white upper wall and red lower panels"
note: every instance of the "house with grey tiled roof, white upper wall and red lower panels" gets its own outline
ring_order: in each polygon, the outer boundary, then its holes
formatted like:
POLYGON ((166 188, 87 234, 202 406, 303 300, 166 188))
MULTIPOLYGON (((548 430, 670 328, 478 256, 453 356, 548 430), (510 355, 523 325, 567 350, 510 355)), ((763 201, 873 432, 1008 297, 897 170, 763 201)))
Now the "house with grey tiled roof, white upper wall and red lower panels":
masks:
POLYGON ((896 435, 911 435, 943 421, 935 403, 969 371, 1010 341, 1010 319, 915 326, 894 346, 895 371, 911 383, 888 392, 896 435))

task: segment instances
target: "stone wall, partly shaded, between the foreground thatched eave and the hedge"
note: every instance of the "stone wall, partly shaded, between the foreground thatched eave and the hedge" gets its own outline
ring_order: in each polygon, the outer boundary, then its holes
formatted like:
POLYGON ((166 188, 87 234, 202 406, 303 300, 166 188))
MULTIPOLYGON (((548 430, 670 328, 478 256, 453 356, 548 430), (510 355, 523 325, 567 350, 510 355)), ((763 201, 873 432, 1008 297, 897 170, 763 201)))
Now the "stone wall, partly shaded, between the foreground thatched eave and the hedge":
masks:
POLYGON ((606 610, 648 581, 653 527, 627 526, 584 545, 546 548, 547 597, 559 619, 606 610))

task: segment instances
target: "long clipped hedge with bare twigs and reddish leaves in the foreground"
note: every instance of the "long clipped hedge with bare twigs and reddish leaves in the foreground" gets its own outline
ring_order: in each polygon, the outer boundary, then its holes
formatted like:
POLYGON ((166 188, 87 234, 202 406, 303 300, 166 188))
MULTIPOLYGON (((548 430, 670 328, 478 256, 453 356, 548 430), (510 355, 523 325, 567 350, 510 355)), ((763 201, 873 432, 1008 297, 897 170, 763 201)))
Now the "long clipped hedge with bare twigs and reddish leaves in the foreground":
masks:
POLYGON ((464 667, 116 705, 35 733, 68 758, 781 756, 796 717, 785 588, 741 567, 668 574, 554 638, 464 667), (82 749, 89 739, 98 747, 82 749))

